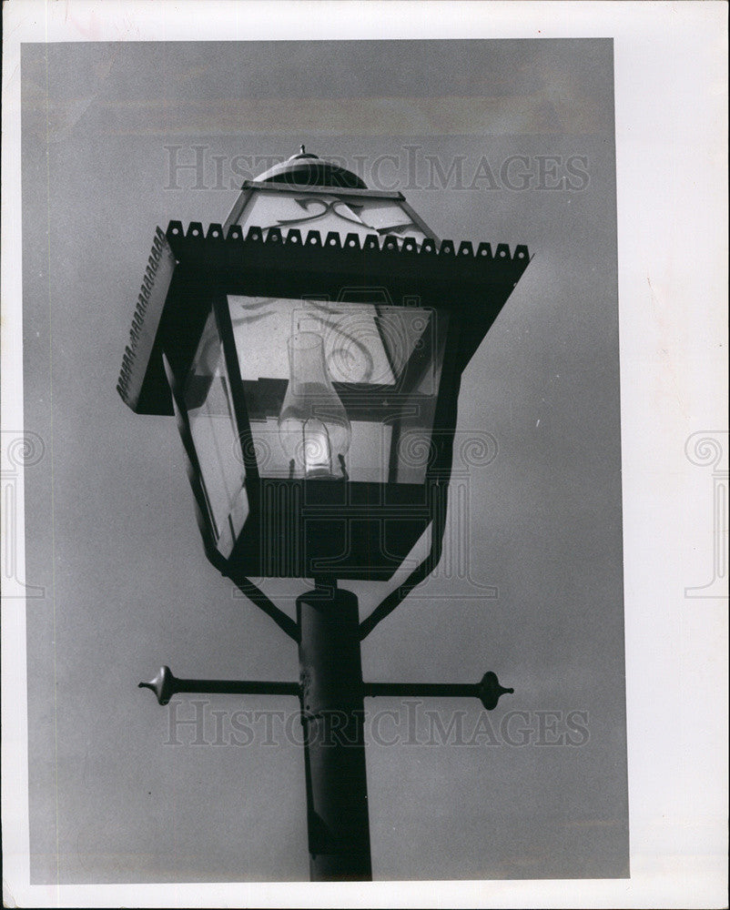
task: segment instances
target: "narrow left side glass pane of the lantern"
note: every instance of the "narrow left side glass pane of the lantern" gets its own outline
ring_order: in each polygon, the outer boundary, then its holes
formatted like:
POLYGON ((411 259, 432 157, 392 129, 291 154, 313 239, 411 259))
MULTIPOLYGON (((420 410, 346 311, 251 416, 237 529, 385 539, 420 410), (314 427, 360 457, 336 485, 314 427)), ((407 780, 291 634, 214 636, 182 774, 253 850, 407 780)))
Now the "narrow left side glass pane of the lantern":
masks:
POLYGON ((208 518, 228 557, 248 515, 245 470, 216 319, 211 311, 183 390, 208 518))

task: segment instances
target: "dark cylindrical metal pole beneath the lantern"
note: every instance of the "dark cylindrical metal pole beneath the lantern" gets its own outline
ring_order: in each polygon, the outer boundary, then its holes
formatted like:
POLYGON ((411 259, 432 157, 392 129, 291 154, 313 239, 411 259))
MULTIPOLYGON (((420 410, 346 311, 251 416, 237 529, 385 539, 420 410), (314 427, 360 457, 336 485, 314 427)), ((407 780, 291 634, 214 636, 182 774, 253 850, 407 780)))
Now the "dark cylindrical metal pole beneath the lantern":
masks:
POLYGON ((358 599, 335 581, 315 585, 297 599, 309 873, 370 881, 358 599))

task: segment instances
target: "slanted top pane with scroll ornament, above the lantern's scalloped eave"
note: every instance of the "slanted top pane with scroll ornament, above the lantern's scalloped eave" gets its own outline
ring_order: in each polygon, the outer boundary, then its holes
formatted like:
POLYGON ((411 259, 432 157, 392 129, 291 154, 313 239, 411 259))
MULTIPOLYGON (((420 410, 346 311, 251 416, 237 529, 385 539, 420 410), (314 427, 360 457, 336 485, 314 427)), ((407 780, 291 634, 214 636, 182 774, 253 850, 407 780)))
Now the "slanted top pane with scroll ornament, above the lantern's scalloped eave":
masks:
POLYGON ((347 234, 360 238, 368 234, 380 237, 413 238, 417 244, 426 238, 421 227, 401 207, 398 199, 367 196, 341 196, 336 192, 301 193, 296 190, 254 190, 238 218, 244 230, 248 227, 279 227, 284 234, 297 227, 306 236, 319 230, 324 238, 330 230, 344 239, 347 234))

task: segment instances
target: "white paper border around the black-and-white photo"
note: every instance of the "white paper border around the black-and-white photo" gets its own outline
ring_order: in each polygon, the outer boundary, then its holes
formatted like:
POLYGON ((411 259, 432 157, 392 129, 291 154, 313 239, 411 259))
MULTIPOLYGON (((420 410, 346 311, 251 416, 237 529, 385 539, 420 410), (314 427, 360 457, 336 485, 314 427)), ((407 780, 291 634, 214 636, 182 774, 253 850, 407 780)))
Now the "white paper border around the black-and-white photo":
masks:
POLYGON ((726 805, 727 602, 684 600, 685 584, 696 580, 684 578, 683 561, 699 545, 693 522, 704 518, 701 509, 678 514, 684 440, 727 425, 725 4, 11 0, 3 13, 8 430, 22 428, 23 416, 21 42, 613 37, 632 863, 626 881, 28 885, 25 616, 23 602, 11 600, 2 613, 6 905, 725 905, 725 809, 715 822, 710 810, 726 805), (676 400, 657 399, 664 384, 676 400), (656 628, 657 602, 666 605, 664 629, 656 628), (689 830, 693 806, 699 827, 689 830))

